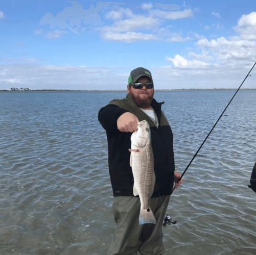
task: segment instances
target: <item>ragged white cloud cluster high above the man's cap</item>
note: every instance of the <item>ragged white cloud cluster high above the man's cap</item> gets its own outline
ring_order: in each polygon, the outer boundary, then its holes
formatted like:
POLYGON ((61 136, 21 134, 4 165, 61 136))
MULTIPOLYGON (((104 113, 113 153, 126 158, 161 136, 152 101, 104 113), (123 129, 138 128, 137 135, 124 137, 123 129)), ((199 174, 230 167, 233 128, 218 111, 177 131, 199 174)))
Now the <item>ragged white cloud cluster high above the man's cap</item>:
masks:
MULTIPOLYGON (((161 6, 161 4, 157 5, 161 6)), ((131 9, 128 8, 119 8, 118 11, 112 10, 105 15, 106 18, 113 20, 113 23, 111 25, 104 25, 95 29, 100 31, 101 36, 106 40, 131 42, 137 40, 160 40, 160 38, 164 39, 168 37, 169 39, 167 40, 171 42, 192 40, 190 36, 183 38, 181 34, 170 33, 169 31, 165 31, 165 33, 163 33, 162 30, 164 30, 164 28, 159 29, 159 25, 165 19, 175 20, 194 16, 191 9, 174 12, 152 10, 151 3, 143 4, 141 7, 149 11, 148 16, 133 14, 131 9), (123 19, 124 17, 126 17, 126 19, 123 19), (138 30, 151 30, 153 33, 156 33, 156 35, 145 34, 144 32, 138 30), (127 32, 130 32, 130 34, 127 32), (127 35, 130 35, 131 39, 127 38, 127 35)), ((161 7, 167 9, 174 8, 175 6, 163 5, 161 7)), ((177 6, 175 8, 177 8, 177 6)), ((170 26, 171 25, 169 25, 168 27, 170 26)))

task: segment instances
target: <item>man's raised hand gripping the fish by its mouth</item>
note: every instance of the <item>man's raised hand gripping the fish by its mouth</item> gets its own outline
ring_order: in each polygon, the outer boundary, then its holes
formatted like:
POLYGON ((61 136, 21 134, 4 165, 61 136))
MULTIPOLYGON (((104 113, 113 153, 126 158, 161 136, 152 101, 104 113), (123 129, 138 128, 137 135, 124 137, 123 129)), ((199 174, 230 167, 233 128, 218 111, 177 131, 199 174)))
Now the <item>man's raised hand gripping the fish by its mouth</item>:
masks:
POLYGON ((133 132, 137 130, 137 122, 138 118, 134 114, 125 112, 118 118, 118 129, 121 132, 133 132))

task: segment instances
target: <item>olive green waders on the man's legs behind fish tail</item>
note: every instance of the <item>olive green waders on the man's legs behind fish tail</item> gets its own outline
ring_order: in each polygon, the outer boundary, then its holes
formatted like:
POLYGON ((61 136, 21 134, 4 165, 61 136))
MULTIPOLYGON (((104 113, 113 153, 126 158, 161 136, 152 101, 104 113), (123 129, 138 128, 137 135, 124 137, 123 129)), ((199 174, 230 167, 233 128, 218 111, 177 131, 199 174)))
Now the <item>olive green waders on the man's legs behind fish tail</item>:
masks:
POLYGON ((170 195, 150 198, 149 204, 156 224, 138 224, 141 201, 133 196, 115 196, 113 214, 115 228, 107 255, 160 255, 165 252, 162 244, 162 221, 170 195), (160 200, 161 199, 161 200, 160 200), (162 201, 162 203, 161 203, 162 201))

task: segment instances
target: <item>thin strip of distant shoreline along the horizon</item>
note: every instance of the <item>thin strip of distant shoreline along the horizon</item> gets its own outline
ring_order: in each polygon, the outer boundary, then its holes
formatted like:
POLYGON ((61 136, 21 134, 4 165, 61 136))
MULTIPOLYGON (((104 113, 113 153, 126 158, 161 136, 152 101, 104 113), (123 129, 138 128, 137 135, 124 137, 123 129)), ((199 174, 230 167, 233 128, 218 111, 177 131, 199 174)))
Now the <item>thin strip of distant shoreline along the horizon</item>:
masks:
MULTIPOLYGON (((155 89, 155 91, 194 91, 194 90, 237 90, 234 89, 155 89)), ((240 89, 240 90, 256 90, 256 89, 240 89)), ((86 91, 86 92, 127 92, 127 90, 70 90, 70 89, 35 89, 29 91, 12 91, 12 90, 0 90, 0 92, 31 92, 31 91, 86 91)))

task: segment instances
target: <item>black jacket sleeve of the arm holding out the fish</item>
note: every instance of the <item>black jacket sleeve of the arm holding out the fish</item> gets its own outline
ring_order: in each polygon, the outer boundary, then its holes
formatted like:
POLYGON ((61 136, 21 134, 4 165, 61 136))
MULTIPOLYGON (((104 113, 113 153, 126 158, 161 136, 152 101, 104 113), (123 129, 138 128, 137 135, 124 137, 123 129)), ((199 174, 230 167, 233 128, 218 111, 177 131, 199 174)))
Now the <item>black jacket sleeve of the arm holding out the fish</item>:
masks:
POLYGON ((104 130, 117 129, 117 120, 126 111, 116 105, 107 105, 102 107, 98 114, 98 119, 104 130))

